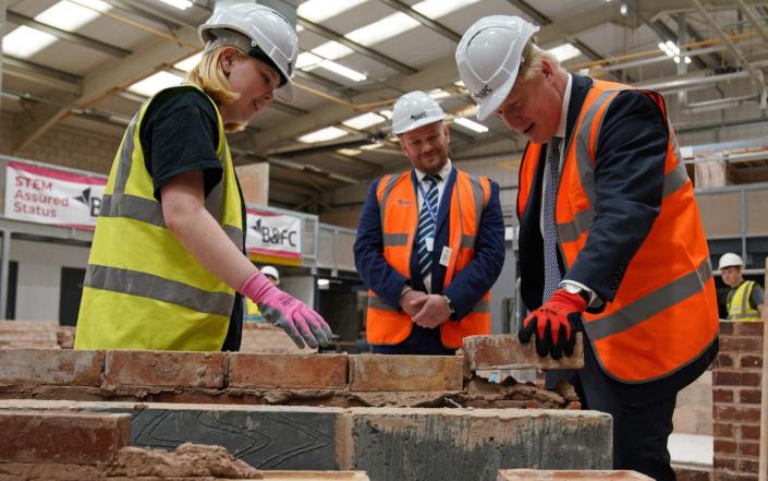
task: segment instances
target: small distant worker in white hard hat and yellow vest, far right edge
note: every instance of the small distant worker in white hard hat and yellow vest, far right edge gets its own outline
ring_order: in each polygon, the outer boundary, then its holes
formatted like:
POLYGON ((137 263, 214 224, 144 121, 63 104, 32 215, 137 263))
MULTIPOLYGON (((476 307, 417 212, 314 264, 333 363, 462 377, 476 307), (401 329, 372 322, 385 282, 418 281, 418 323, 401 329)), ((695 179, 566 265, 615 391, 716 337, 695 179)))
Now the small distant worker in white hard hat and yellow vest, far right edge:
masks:
POLYGON ((718 265, 722 281, 731 287, 726 298, 729 321, 760 321, 763 313, 763 288, 754 280, 744 280, 744 261, 732 253, 722 254, 718 265))

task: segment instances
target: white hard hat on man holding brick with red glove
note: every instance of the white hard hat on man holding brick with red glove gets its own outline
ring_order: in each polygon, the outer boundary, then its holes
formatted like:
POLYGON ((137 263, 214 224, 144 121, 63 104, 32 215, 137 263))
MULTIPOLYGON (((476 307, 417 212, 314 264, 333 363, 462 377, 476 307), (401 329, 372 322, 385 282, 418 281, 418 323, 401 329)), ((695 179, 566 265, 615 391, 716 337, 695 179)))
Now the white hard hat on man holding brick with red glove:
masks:
POLYGON ((456 47, 459 76, 485 120, 507 98, 520 71, 523 48, 538 27, 520 16, 491 15, 478 20, 456 47))

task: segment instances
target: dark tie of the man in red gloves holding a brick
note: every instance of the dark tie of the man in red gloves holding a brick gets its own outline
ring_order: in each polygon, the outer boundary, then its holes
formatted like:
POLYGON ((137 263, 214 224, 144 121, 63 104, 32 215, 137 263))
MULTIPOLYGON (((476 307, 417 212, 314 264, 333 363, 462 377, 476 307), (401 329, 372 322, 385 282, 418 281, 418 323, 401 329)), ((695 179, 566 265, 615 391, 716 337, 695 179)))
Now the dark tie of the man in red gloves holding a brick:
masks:
POLYGON ((547 185, 544 190, 543 224, 544 224, 544 298, 547 302, 558 289, 560 280, 560 265, 558 263, 558 227, 554 218, 554 206, 558 200, 558 185, 560 184, 560 137, 549 141, 547 154, 547 185))

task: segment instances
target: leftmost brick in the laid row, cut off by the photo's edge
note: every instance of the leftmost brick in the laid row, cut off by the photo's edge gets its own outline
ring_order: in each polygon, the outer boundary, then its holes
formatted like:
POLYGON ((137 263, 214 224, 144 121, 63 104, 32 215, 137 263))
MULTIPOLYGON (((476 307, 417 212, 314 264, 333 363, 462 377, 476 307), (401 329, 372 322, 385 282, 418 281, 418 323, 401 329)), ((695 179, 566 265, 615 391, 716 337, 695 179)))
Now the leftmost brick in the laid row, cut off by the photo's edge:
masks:
POLYGON ((98 386, 102 351, 0 349, 0 384, 98 386))

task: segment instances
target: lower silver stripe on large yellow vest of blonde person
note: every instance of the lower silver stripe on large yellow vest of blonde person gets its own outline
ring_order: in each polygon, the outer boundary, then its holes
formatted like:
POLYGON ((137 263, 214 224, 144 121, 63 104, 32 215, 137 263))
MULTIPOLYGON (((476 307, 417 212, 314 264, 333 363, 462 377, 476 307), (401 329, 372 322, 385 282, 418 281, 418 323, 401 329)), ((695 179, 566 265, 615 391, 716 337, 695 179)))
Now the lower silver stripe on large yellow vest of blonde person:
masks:
POLYGON ((232 315, 234 296, 207 292, 178 280, 119 267, 88 264, 85 286, 171 302, 206 314, 232 315))

